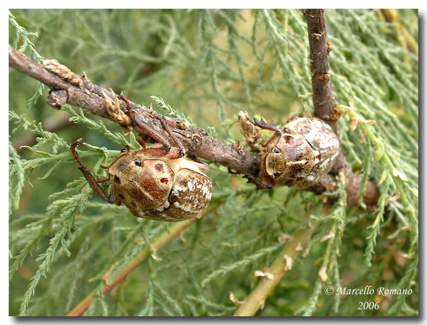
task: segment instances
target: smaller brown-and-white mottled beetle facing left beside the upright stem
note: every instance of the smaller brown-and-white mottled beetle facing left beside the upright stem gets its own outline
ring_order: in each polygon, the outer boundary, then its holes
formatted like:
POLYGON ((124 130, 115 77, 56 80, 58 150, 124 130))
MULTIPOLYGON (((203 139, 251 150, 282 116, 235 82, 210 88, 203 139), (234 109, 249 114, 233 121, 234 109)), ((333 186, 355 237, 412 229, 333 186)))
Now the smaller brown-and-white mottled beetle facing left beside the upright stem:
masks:
POLYGON ((263 144, 260 176, 267 184, 246 175, 258 188, 271 188, 276 183, 310 187, 331 170, 338 157, 339 140, 332 128, 319 118, 293 117, 282 129, 273 121, 251 121, 243 112, 239 114, 239 121, 274 131, 263 144))

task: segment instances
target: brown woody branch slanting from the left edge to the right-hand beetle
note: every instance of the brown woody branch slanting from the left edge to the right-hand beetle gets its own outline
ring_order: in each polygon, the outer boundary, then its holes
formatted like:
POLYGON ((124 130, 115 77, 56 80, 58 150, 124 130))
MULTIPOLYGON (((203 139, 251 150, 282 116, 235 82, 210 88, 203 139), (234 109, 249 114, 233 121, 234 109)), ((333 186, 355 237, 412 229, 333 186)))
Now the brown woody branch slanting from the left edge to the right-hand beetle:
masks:
MULTIPOLYGON (((68 103, 86 109, 92 114, 113 120, 107 112, 102 89, 93 84, 86 76, 79 77, 82 81, 80 88, 78 85, 67 82, 49 72, 41 64, 35 63, 21 52, 12 49, 11 46, 9 46, 9 67, 48 85, 51 89, 48 103, 56 109, 60 109, 63 104, 68 103)), ((111 98, 116 96, 110 92, 105 92, 105 94, 111 98)), ((138 112, 138 117, 143 123, 153 128, 156 132, 163 134, 169 139, 170 143, 174 143, 164 132, 160 121, 153 117, 151 109, 134 102, 130 102, 130 104, 132 109, 138 112)), ((126 112, 126 106, 123 101, 120 101, 120 109, 126 112)), ((252 176, 258 174, 261 159, 251 155, 246 148, 236 150, 232 146, 225 145, 212 138, 203 128, 193 127, 184 122, 177 122, 167 116, 164 116, 164 119, 173 134, 181 141, 188 154, 220 163, 245 174, 252 176)), ((139 128, 135 127, 134 129, 142 133, 139 128)))

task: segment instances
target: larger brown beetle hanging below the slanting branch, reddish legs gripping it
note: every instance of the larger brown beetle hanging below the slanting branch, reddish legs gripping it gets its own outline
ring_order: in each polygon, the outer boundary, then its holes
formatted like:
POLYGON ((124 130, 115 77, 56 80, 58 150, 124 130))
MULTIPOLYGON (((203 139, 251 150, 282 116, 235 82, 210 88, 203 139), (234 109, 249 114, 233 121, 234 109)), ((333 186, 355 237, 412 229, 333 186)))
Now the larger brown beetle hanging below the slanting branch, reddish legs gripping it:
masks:
POLYGON ((189 161, 177 148, 164 148, 161 144, 131 152, 129 146, 123 149, 108 169, 109 177, 95 180, 91 171, 80 161, 75 141, 71 152, 80 164, 80 170, 102 200, 117 205, 124 204, 139 218, 160 221, 182 221, 193 218, 209 203, 212 182, 204 174, 209 166, 189 161), (113 179, 109 196, 99 183, 113 179))

